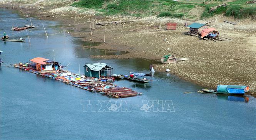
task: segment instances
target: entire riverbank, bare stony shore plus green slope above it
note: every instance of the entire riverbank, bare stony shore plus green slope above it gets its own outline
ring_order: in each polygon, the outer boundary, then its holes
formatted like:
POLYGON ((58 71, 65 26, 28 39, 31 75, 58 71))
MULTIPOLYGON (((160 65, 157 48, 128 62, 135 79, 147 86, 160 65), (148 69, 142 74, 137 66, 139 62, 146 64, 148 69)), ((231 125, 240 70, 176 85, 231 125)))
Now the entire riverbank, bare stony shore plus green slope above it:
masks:
MULTIPOLYGON (((56 28, 65 28, 70 31, 70 35, 80 38, 81 41, 101 42, 93 48, 127 52, 122 55, 92 56, 93 58, 160 60, 171 51, 174 52, 171 54, 177 57, 184 56, 192 60, 179 61, 175 64, 155 64, 155 70, 164 72, 167 68, 171 69, 172 74, 203 87, 215 88, 218 84, 234 84, 247 85, 250 91, 256 91, 254 78, 256 77, 256 28, 254 26, 256 21, 255 11, 253 11, 256 3, 245 4, 246 1, 239 0, 206 0, 205 3, 197 0, 193 2, 99 0, 90 4, 88 2, 90 1, 60 0, 37 3, 19 0, 4 3, 1 1, 1 8, 20 12, 22 9, 21 16, 28 14, 25 9, 29 10, 31 16, 50 15, 39 17, 39 19, 60 21, 63 27, 56 28), (229 5, 226 8, 217 8, 211 15, 206 15, 206 19, 201 17, 203 13, 209 12, 206 7, 210 8, 223 3, 229 5), (239 7, 239 12, 234 8, 236 6, 239 7), (107 23, 106 31, 104 26, 94 24, 91 35, 89 21, 92 24, 92 18, 94 23, 107 23), (185 22, 204 23, 212 18, 214 22, 210 26, 214 26, 221 36, 230 40, 205 41, 186 35, 188 29, 184 27, 185 22), (123 20, 135 21, 124 23, 124 26, 113 22, 123 20), (224 20, 233 21, 238 25, 224 23, 224 20), (176 30, 166 30, 167 22, 176 22, 176 30), (106 43, 102 43, 104 32, 106 43)), ((81 47, 90 46, 82 45, 81 47)), ((255 96, 256 92, 249 94, 255 96)))

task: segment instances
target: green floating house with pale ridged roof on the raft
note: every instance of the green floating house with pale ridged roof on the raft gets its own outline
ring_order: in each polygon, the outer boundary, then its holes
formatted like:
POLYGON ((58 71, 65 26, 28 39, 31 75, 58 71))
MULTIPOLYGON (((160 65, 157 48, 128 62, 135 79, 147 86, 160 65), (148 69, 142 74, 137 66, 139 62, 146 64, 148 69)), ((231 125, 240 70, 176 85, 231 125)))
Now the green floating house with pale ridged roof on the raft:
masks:
POLYGON ((111 77, 114 74, 114 68, 106 63, 92 63, 84 65, 84 75, 87 77, 111 77))

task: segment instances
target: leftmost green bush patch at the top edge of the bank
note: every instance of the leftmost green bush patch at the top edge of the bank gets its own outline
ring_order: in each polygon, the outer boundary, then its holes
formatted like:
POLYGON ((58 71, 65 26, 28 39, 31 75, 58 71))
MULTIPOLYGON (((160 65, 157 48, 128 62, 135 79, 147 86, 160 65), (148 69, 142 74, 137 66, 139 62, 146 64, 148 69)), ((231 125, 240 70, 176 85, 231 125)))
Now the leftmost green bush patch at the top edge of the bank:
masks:
POLYGON ((101 8, 104 0, 80 0, 72 4, 74 7, 101 8))

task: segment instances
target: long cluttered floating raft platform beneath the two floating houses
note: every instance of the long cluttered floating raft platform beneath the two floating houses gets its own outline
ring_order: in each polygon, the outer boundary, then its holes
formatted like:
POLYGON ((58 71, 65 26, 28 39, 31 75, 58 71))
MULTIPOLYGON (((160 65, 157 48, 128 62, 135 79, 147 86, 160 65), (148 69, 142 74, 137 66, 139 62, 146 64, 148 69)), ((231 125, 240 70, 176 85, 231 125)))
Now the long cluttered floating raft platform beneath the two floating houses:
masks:
MULTIPOLYGON (((69 84, 71 86, 79 87, 81 89, 85 89, 90 92, 99 92, 102 95, 107 95, 114 98, 118 98, 118 97, 123 98, 123 97, 132 97, 132 96, 142 95, 142 93, 132 91, 132 89, 127 87, 118 87, 113 85, 110 82, 95 81, 93 77, 85 77, 86 79, 90 79, 90 81, 88 82, 71 81, 66 79, 64 76, 60 76, 60 74, 57 74, 55 70, 36 71, 31 67, 27 67, 23 65, 21 66, 19 64, 14 64, 14 67, 23 69, 25 71, 29 71, 41 76, 49 77, 51 79, 64 82, 65 84, 69 84)), ((63 72, 69 72, 69 71, 63 71, 63 72)))

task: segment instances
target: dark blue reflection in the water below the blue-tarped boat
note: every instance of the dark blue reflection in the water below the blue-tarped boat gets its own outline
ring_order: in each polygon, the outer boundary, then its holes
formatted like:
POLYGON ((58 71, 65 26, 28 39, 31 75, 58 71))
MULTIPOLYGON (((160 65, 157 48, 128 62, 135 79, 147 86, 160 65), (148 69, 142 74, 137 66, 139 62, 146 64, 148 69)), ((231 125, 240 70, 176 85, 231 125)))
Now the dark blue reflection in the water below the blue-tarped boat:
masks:
POLYGON ((236 95, 226 95, 226 94, 216 94, 218 99, 236 101, 236 102, 249 102, 249 98, 245 95, 236 96, 236 95))

